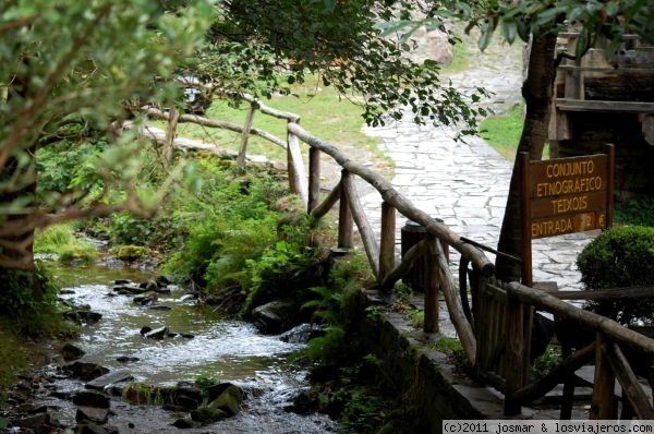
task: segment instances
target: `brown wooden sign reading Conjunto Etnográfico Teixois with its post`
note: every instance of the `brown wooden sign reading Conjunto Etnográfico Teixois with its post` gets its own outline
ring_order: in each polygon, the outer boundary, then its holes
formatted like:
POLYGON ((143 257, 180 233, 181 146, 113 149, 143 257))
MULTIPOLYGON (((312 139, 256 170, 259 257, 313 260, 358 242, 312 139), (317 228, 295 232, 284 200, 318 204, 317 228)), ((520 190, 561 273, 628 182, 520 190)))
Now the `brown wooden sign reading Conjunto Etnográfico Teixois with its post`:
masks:
POLYGON ((538 161, 521 154, 524 285, 532 285, 531 240, 611 226, 614 148, 606 149, 538 161))

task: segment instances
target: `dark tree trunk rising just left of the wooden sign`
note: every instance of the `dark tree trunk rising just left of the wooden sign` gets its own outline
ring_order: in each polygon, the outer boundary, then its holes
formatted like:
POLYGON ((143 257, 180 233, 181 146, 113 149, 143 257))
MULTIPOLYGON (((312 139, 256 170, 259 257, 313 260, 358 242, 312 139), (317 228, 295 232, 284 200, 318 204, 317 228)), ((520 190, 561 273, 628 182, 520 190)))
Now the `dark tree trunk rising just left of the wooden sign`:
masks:
MULTIPOLYGON (((521 256, 521 219, 520 219, 520 165, 519 156, 528 152, 530 159, 540 160, 543 156, 543 146, 547 140, 549 125, 549 109, 552 105, 553 85, 556 75, 554 50, 556 35, 546 34, 533 36, 529 51, 529 65, 522 96, 526 106, 524 129, 518 145, 509 196, 505 210, 501 231, 497 250, 514 256, 521 256)), ((497 256, 497 277, 505 281, 520 280, 520 264, 506 257, 497 256)))

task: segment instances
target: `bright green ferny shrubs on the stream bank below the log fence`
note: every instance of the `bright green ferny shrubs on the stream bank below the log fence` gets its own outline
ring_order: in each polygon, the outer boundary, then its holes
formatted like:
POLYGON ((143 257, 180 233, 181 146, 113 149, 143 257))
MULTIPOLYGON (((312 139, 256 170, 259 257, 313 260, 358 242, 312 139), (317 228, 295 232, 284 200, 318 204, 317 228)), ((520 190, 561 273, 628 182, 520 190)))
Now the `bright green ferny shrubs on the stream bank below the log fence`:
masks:
POLYGON ((165 268, 209 292, 234 284, 249 288, 247 261, 275 245, 279 214, 270 208, 284 189, 263 172, 235 176, 211 159, 199 161, 196 181, 194 194, 182 191, 170 204, 180 245, 165 268))

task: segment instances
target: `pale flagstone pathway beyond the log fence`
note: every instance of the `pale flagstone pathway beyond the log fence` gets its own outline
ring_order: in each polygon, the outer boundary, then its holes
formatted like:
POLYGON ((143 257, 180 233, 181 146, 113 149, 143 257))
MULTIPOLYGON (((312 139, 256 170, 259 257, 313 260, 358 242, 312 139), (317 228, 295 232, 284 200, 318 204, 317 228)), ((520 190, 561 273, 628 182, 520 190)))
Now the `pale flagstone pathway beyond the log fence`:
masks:
MULTIPOLYGON (((493 93, 486 106, 495 112, 502 112, 520 101, 519 47, 496 44, 487 52, 471 57, 474 57, 473 70, 448 74, 455 86, 463 91, 485 87, 493 93)), ((452 138, 453 129, 419 126, 409 119, 384 128, 365 128, 364 132, 380 141, 383 152, 396 164, 393 186, 415 206, 443 219, 463 237, 497 246, 512 161, 481 137, 457 142, 452 138)), ((380 201, 376 191, 362 197, 377 231, 380 201)), ((405 221, 398 216, 398 238, 399 228, 405 221)), ((578 233, 535 240, 532 248, 534 280, 556 281, 559 289, 580 289, 574 261, 590 238, 588 233, 578 233)), ((495 261, 494 255, 488 256, 495 261)), ((458 253, 450 255, 455 268, 458 257, 458 253)))

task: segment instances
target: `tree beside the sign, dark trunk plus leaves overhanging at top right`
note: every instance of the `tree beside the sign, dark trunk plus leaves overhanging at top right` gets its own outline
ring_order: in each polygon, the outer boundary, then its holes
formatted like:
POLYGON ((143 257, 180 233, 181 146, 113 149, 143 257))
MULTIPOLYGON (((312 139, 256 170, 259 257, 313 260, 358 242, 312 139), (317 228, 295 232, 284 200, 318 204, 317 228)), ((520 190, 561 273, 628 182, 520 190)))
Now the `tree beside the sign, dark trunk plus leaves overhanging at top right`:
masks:
MULTIPOLYGON (((645 40, 654 41, 654 2, 646 0, 629 1, 492 1, 482 9, 463 9, 459 17, 470 25, 479 25, 482 33, 480 47, 485 48, 494 32, 509 43, 517 37, 531 40, 526 79, 522 86, 526 112, 522 135, 513 165, 509 196, 501 226, 498 250, 514 256, 521 255, 520 220, 520 166, 518 156, 522 152, 530 159, 541 159, 547 140, 547 128, 552 105, 552 94, 556 68, 562 55, 556 55, 556 37, 561 31, 577 29, 579 38, 576 58, 581 58, 600 38, 608 41, 606 55, 610 56, 619 47, 622 35, 632 32, 645 40)), ((498 278, 519 280, 520 264, 498 256, 496 260, 498 278)))

